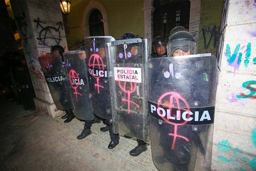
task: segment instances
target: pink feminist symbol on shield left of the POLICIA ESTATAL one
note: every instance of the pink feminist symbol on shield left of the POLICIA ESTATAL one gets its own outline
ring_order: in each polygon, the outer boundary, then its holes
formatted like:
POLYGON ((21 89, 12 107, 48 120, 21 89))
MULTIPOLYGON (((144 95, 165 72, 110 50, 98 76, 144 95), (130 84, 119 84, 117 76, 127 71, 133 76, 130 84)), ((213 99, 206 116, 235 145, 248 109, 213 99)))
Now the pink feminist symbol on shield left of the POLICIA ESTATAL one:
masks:
MULTIPOLYGON (((97 54, 92 54, 89 59, 89 67, 92 66, 92 70, 94 70, 94 67, 98 67, 99 70, 104 70, 104 64, 101 57, 97 54), (93 62, 92 62, 93 61, 93 62)), ((95 76, 94 74, 91 74, 94 78, 96 78, 97 84, 94 84, 95 89, 98 88, 98 94, 100 93, 99 87, 104 88, 102 85, 99 85, 99 78, 103 76, 103 73, 99 72, 99 76, 95 76)))

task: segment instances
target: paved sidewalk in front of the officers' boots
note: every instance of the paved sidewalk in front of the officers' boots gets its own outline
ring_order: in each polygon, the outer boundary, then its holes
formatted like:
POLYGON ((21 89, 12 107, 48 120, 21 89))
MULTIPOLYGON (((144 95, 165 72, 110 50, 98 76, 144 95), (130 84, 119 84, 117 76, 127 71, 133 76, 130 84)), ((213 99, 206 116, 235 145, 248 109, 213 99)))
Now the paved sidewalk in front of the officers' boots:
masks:
POLYGON ((84 122, 52 119, 42 112, 25 111, 21 105, 1 105, 0 170, 157 170, 151 147, 137 157, 129 151, 137 142, 120 137, 120 143, 109 150, 108 132, 92 125, 92 134, 83 140, 76 136, 84 122))

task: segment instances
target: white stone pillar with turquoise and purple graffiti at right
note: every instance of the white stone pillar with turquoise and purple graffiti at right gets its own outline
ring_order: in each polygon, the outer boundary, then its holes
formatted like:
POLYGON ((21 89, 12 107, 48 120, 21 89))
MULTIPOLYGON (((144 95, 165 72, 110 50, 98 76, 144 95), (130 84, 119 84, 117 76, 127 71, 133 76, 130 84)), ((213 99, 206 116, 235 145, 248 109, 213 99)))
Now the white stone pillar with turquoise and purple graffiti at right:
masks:
POLYGON ((256 167, 255 14, 254 0, 225 1, 212 170, 256 167))

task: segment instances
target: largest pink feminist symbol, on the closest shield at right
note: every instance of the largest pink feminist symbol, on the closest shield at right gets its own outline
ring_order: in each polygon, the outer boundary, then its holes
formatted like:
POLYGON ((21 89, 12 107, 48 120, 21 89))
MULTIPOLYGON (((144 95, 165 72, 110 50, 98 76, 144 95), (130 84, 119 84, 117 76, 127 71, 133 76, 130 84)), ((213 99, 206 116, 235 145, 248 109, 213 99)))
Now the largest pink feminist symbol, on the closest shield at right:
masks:
MULTIPOLYGON (((187 111, 188 115, 189 115, 190 110, 189 110, 188 103, 186 102, 186 100, 179 93, 174 92, 174 91, 166 92, 163 95, 161 95, 161 97, 158 100, 158 107, 161 106, 161 101, 166 96, 170 96, 170 103, 169 103, 169 106, 168 106, 169 109, 170 109, 170 113, 171 113, 172 109, 178 109, 178 110, 185 110, 185 111, 187 111), (183 101, 187 108, 181 108, 179 100, 183 101), (177 102, 177 107, 174 106, 174 104, 173 104, 174 101, 177 102)), ((180 119, 178 117, 180 117, 180 116, 177 116, 177 119, 180 119)), ((182 138, 182 139, 186 140, 187 142, 189 142, 189 139, 187 137, 184 137, 184 136, 181 136, 181 135, 177 134, 178 126, 186 124, 187 121, 184 121, 182 123, 174 123, 174 122, 170 122, 169 121, 170 118, 168 118, 168 117, 167 117, 167 119, 162 117, 162 119, 164 119, 165 122, 167 122, 167 123, 169 123, 171 125, 174 125, 174 132, 173 132, 173 134, 172 133, 169 134, 170 136, 173 136, 173 143, 172 143, 172 147, 171 147, 172 150, 175 149, 175 142, 176 142, 176 138, 177 137, 182 138)))

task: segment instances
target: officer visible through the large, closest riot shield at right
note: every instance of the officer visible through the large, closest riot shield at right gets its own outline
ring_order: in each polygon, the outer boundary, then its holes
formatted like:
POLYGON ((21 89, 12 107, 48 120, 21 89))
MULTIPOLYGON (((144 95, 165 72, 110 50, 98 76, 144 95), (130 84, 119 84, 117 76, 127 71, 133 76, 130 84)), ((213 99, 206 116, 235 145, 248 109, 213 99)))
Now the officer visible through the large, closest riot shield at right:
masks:
MULTIPOLYGON (((195 40, 189 32, 178 31, 169 39, 167 45, 168 56, 178 57, 181 55, 193 55, 195 54, 195 45, 195 40)), ((204 79, 204 76, 205 74, 207 75, 207 73, 203 67, 197 69, 196 64, 177 61, 173 64, 173 72, 179 72, 181 75, 186 75, 186 78, 175 76, 174 78, 164 78, 163 72, 165 72, 165 70, 163 70, 158 76, 159 84, 155 84, 155 89, 161 90, 161 92, 158 93, 159 95, 173 90, 180 93, 180 95, 186 99, 190 108, 207 106, 209 85, 208 80, 204 79), (194 68, 193 72, 191 68, 194 68), (163 81, 164 79, 165 81, 163 81), (161 84, 161 82, 165 82, 165 84, 161 84), (184 82, 186 85, 184 85, 184 82), (184 86, 181 86, 181 84, 184 86)), ((168 99, 163 99, 161 105, 169 106, 169 103, 168 99)), ((176 103, 177 102, 174 101, 173 105, 177 106, 178 104, 176 103)), ((182 102, 180 102, 180 105, 181 103, 182 102)), ((205 149, 202 145, 199 133, 200 131, 208 130, 208 126, 200 125, 198 126, 198 129, 194 129, 193 125, 179 126, 178 134, 188 138, 189 142, 182 138, 177 138, 175 149, 171 149, 172 142, 174 141, 173 137, 166 136, 169 133, 169 130, 173 129, 172 127, 173 125, 171 124, 163 123, 162 130, 159 130, 159 145, 163 148, 164 156, 158 156, 154 158, 154 161, 159 164, 171 162, 173 170, 189 170, 188 166, 193 157, 190 154, 192 142, 197 144, 201 154, 205 155, 205 149)))

